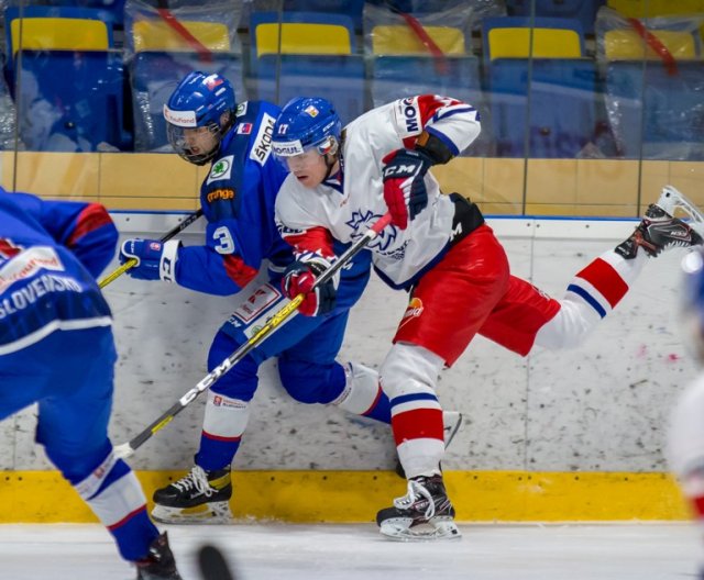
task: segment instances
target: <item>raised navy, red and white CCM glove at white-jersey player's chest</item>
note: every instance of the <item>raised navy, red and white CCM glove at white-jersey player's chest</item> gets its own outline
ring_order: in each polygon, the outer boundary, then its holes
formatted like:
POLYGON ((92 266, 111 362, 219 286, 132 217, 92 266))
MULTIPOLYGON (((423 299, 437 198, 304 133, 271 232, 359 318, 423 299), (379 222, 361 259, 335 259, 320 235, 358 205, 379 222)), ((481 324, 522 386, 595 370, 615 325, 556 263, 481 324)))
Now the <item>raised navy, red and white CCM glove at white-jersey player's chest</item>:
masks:
POLYGON ((384 201, 392 214, 392 224, 408 227, 428 205, 428 190, 424 178, 432 159, 424 152, 396 149, 386 155, 384 163, 384 201))

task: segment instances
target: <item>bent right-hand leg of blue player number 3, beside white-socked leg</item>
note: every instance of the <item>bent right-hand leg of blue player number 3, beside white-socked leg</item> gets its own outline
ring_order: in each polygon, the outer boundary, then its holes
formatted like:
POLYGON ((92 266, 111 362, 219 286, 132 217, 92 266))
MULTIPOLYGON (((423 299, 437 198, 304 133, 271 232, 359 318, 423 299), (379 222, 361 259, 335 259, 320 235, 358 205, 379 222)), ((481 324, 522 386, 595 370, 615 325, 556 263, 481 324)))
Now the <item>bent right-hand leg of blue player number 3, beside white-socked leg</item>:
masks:
POLYGON ((388 398, 378 373, 360 362, 336 360, 349 311, 320 319, 320 325, 278 357, 284 389, 301 403, 332 404, 345 411, 391 423, 388 398))

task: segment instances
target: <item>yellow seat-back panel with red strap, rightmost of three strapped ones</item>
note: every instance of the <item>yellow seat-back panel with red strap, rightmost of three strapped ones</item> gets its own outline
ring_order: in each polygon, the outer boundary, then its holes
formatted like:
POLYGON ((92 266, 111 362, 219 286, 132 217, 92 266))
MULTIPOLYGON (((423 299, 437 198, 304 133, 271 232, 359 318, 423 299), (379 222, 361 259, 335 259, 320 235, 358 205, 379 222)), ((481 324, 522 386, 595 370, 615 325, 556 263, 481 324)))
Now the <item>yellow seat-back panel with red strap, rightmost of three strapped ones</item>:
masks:
MULTIPOLYGON (((689 32, 650 31, 678 60, 697 58, 694 36, 689 32)), ((632 30, 607 31, 604 34, 604 52, 607 60, 660 60, 640 35, 632 30)))

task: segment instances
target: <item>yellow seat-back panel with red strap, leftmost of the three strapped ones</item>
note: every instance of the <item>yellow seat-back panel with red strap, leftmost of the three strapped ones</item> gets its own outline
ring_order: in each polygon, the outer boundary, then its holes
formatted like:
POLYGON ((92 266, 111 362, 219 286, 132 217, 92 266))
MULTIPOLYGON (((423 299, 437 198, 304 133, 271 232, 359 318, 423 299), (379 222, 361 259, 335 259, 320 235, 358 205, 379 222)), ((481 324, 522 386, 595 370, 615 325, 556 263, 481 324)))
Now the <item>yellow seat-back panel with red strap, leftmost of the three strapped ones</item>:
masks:
MULTIPOLYGON (((230 51, 228 27, 219 22, 179 21, 206 48, 212 52, 230 51)), ((172 25, 163 20, 140 20, 132 30, 134 51, 193 52, 195 47, 172 25)))

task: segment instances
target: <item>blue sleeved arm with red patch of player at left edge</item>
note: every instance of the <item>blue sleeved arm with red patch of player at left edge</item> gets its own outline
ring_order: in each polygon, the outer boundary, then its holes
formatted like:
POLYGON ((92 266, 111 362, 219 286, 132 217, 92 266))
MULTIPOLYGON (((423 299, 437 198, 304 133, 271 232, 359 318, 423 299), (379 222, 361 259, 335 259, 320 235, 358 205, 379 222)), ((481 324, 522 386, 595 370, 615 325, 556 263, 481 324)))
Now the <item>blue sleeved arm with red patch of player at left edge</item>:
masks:
POLYGON ((43 200, 12 193, 59 244, 67 247, 94 276, 110 264, 118 244, 118 228, 100 203, 43 200))

